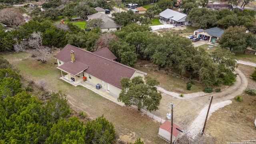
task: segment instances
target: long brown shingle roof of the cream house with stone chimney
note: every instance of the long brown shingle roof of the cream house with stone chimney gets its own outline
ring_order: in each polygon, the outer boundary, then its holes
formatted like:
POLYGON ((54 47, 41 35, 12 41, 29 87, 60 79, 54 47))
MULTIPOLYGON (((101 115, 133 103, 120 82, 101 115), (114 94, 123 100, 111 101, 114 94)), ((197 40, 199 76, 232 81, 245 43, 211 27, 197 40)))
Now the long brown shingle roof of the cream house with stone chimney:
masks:
POLYGON ((71 46, 67 44, 55 57, 57 60, 61 60, 62 62, 65 62, 63 66, 59 66, 58 68, 68 68, 65 71, 68 73, 72 73, 73 71, 78 72, 81 67, 85 68, 88 67, 84 72, 99 78, 100 80, 103 80, 104 82, 107 82, 109 84, 112 84, 113 86, 116 86, 117 88, 122 88, 120 84, 120 80, 124 77, 131 78, 133 74, 137 72, 141 72, 143 74, 146 74, 145 72, 136 70, 135 68, 131 68, 129 66, 126 66, 124 64, 120 64, 118 62, 115 62, 113 60, 109 60, 107 58, 104 58, 102 56, 98 56, 92 52, 89 52, 87 50, 77 48, 75 46, 71 46), (70 62, 70 51, 74 51, 75 55, 75 62, 70 62), (64 66, 67 65, 67 66, 64 66), (72 69, 70 69, 72 67, 72 69))

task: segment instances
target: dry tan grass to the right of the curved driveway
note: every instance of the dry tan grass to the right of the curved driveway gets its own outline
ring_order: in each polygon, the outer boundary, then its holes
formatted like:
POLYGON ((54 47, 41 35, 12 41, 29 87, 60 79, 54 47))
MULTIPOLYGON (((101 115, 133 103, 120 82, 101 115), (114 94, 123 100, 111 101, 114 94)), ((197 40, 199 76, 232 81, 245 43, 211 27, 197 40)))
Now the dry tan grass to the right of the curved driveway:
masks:
MULTIPOLYGON (((239 69, 248 79, 248 86, 256 86, 256 82, 250 79, 254 67, 240 65, 239 69)), ((256 140, 256 96, 246 93, 242 95, 243 101, 232 99, 232 104, 212 113, 207 121, 206 133, 216 138, 216 144, 227 142, 242 142, 242 140, 256 140)))

